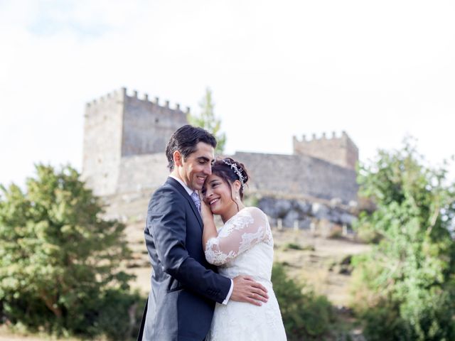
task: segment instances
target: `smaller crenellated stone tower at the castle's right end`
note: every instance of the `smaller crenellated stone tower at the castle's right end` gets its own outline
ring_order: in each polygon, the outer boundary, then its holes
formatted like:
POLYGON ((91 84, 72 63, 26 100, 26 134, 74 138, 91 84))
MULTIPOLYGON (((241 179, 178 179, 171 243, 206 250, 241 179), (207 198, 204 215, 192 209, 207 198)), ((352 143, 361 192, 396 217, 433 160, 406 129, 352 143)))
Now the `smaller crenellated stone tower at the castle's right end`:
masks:
POLYGON ((300 141, 294 136, 292 142, 295 155, 312 156, 355 170, 358 148, 345 131, 341 137, 336 137, 333 132, 331 138, 327 138, 326 134, 323 134, 320 139, 316 139, 313 134, 313 138, 309 141, 306 141, 306 136, 303 136, 300 141))

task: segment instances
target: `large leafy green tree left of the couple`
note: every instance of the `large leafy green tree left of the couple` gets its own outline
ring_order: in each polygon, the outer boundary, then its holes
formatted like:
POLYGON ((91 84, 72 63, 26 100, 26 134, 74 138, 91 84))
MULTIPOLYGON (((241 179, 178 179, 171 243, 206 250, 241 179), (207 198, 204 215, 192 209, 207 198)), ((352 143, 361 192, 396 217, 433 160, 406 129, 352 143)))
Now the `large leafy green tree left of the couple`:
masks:
POLYGON ((36 173, 26 190, 1 186, 1 314, 32 330, 96 333, 100 298, 128 289, 124 225, 102 219, 74 168, 38 165, 36 173))

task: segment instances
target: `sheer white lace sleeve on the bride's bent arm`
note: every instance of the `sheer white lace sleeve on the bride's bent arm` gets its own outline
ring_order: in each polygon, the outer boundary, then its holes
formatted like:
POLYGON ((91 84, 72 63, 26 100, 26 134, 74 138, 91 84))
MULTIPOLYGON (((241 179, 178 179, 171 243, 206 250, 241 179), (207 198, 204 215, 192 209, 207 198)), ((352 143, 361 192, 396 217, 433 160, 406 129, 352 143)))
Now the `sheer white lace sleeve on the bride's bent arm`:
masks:
POLYGON ((228 263, 267 236, 267 216, 257 207, 247 207, 220 229, 217 237, 205 244, 205 259, 210 264, 228 263))

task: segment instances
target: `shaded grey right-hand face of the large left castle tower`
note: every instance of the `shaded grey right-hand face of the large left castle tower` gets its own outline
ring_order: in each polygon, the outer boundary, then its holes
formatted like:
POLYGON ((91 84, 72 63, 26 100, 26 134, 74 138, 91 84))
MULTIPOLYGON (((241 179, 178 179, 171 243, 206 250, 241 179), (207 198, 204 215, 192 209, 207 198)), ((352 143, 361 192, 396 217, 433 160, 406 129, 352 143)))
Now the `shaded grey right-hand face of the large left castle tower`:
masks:
POLYGON ((186 114, 178 105, 170 109, 166 102, 161 107, 158 99, 139 99, 137 92, 125 96, 122 156, 163 153, 172 133, 185 124, 186 114))

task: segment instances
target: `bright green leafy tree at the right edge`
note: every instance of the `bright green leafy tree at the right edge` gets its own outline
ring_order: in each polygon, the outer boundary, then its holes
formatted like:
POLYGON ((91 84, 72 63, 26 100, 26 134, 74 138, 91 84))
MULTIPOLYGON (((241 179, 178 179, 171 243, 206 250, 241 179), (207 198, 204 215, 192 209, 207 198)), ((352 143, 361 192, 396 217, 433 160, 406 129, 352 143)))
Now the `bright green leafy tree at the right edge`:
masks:
POLYGON ((380 236, 354 260, 355 303, 368 340, 455 340, 455 185, 425 166, 414 143, 360 165, 360 195, 376 205, 356 228, 380 236))

